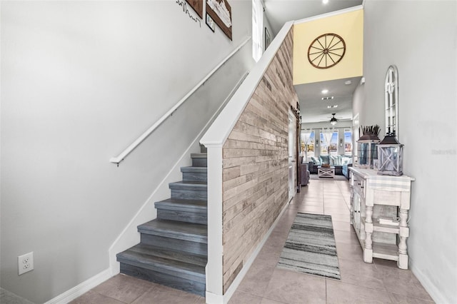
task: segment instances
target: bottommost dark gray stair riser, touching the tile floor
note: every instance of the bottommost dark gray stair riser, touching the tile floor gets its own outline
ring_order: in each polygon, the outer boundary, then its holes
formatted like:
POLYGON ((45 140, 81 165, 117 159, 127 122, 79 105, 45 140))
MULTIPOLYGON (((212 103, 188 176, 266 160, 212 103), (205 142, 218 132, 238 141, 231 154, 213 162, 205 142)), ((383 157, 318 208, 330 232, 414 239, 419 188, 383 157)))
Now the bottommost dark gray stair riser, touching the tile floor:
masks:
POLYGON ((188 293, 194 293, 196 295, 201 295, 203 297, 205 296, 205 283, 199 283, 194 280, 179 278, 174 275, 169 275, 166 273, 161 273, 146 268, 141 268, 135 265, 128 265, 125 263, 121 263, 121 273, 131 275, 136 278, 141 278, 143 280, 149 280, 153 283, 166 285, 171 288, 184 290, 188 293))

